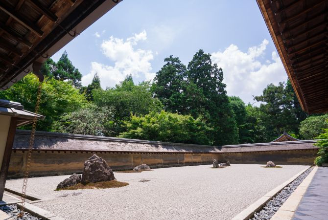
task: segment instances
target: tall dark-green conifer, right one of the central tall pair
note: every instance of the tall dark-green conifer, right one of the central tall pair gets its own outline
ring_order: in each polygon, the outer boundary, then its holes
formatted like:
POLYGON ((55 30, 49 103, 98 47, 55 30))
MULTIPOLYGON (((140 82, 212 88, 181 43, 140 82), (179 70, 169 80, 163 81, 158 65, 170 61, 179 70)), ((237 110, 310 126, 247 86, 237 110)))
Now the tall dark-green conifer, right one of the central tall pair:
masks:
POLYGON ((236 144, 238 129, 222 81, 222 68, 212 64, 210 54, 199 50, 187 66, 187 83, 191 91, 200 95, 186 93, 184 114, 190 113, 195 118, 203 115, 214 128, 214 144, 236 144))

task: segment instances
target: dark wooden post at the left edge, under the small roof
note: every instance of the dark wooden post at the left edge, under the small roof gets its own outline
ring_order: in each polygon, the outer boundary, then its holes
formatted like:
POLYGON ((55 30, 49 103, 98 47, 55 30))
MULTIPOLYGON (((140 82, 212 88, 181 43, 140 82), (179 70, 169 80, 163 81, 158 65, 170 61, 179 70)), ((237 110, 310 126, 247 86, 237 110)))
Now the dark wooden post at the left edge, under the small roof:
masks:
POLYGON ((1 170, 0 170, 0 200, 2 200, 4 186, 6 184, 8 167, 9 167, 9 162, 10 162, 10 155, 11 155, 11 150, 13 148, 14 137, 15 137, 15 133, 16 133, 16 126, 17 126, 17 118, 11 117, 6 147, 4 150, 2 166, 1 166, 1 170))

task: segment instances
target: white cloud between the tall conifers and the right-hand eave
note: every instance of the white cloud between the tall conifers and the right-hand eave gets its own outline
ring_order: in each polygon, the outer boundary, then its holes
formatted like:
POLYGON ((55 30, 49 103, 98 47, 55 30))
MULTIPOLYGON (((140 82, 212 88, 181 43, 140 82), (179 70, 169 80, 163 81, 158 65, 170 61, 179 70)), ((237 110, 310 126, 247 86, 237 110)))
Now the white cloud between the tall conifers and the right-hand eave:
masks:
POLYGON ((254 103, 253 95, 260 95, 268 84, 286 81, 286 72, 275 51, 271 54, 271 61, 260 61, 268 43, 264 39, 247 52, 231 44, 223 52, 212 53, 212 61, 223 69, 228 95, 239 96, 245 103, 254 103))

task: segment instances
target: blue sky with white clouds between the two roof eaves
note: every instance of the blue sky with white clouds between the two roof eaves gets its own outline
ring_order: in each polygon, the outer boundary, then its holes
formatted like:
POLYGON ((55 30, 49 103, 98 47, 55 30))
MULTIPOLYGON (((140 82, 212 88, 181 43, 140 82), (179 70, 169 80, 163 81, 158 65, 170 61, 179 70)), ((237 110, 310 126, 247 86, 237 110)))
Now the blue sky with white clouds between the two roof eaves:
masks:
POLYGON ((66 50, 84 86, 98 72, 106 88, 129 73, 136 83, 152 79, 169 55, 187 65, 198 49, 245 103, 287 80, 256 0, 123 0, 52 58, 66 50))

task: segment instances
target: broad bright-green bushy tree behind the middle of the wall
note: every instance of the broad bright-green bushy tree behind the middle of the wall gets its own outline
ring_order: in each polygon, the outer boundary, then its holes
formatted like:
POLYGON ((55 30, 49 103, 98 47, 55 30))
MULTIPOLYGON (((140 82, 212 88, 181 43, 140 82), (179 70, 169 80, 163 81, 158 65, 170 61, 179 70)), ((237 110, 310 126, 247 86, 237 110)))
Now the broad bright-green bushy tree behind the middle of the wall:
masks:
POLYGON ((188 144, 211 145, 212 129, 202 118, 194 119, 190 115, 177 113, 151 112, 145 116, 132 115, 131 120, 125 122, 126 132, 120 137, 167 141, 188 144))

